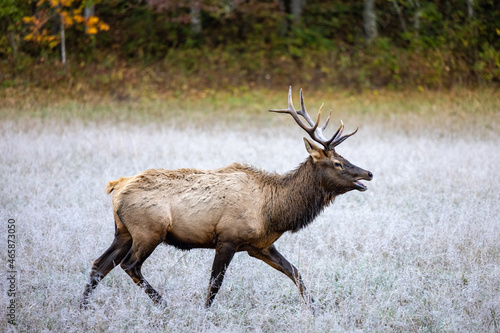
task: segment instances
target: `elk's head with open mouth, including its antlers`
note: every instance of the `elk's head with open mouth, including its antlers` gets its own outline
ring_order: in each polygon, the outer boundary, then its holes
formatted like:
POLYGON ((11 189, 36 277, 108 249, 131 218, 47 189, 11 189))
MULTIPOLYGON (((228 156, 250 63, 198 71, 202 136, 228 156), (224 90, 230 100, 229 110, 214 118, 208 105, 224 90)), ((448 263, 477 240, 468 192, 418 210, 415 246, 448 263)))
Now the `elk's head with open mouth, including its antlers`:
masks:
POLYGON ((332 112, 330 111, 330 115, 326 119, 325 124, 319 127, 323 105, 319 108, 316 122, 313 122, 304 106, 304 97, 302 96, 302 89, 300 89, 300 106, 301 108, 298 111, 293 107, 292 87, 290 86, 288 92, 288 109, 272 109, 269 111, 290 114, 295 122, 306 131, 314 141, 323 146, 323 148, 318 147, 311 140, 304 138, 307 152, 317 168, 316 172, 320 181, 319 186, 335 194, 342 194, 351 190, 366 191, 367 187, 361 183, 360 180, 370 181, 373 178, 373 174, 370 171, 355 166, 335 152, 336 146, 344 142, 348 137, 354 135, 358 130, 356 129, 350 134, 342 135, 344 123, 341 121, 339 129, 330 139, 327 139, 323 131, 328 126, 332 112), (302 122, 299 115, 306 120, 308 125, 302 122))

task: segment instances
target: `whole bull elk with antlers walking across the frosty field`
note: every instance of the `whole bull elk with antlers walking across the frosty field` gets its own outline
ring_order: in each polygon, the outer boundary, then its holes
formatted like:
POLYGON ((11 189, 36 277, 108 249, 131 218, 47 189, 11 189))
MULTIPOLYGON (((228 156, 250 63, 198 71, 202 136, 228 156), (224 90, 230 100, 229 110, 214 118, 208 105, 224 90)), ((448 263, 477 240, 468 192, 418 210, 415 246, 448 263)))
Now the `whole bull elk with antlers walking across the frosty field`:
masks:
POLYGON ((341 122, 327 139, 323 131, 331 112, 319 127, 321 108, 313 122, 304 107, 302 90, 300 104, 301 109, 295 110, 290 87, 288 109, 269 110, 290 114, 323 146, 304 138, 309 156, 294 171, 278 175, 235 163, 206 171, 151 169, 109 182, 115 239, 94 262, 81 306, 88 306, 99 281, 118 264, 154 303, 165 304, 141 273, 142 264, 160 243, 183 250, 215 249, 206 307, 219 291, 234 254, 241 251, 288 276, 312 305, 297 268, 278 252, 274 242, 286 231, 307 226, 336 196, 351 190, 366 191, 360 180, 369 181, 373 175, 335 152, 335 147, 357 129, 342 136, 341 122))

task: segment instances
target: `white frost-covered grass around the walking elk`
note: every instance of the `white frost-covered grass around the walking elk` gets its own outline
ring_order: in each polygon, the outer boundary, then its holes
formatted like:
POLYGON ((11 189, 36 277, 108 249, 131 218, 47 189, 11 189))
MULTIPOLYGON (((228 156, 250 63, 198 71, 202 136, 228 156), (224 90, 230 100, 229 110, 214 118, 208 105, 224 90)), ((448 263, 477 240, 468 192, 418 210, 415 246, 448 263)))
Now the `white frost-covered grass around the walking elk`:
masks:
POLYGON ((5 320, 8 218, 17 226, 20 332, 500 330, 500 135, 408 133, 380 123, 359 124, 338 148, 374 173, 369 190, 337 198, 308 228, 276 242, 302 272, 316 315, 286 276, 246 253, 235 256, 205 310, 213 251, 167 246, 143 267, 166 309, 119 267, 95 290, 91 308, 79 309, 92 261, 113 239, 107 181, 234 161, 285 172, 306 152, 303 134, 291 119, 284 123, 235 131, 3 121, 0 330, 14 330, 5 320))

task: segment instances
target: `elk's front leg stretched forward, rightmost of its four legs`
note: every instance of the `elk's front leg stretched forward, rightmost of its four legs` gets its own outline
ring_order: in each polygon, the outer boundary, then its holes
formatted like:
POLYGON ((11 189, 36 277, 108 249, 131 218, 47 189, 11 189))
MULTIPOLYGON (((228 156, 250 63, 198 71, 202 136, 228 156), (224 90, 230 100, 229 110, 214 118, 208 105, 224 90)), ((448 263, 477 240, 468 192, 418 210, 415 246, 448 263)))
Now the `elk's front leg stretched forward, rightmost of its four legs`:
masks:
POLYGON ((269 266, 277 269, 278 271, 284 273, 288 276, 299 288, 300 295, 304 298, 304 300, 309 303, 311 309, 314 311, 313 303, 314 299, 309 295, 307 288, 302 281, 302 277, 300 276, 297 268, 290 264, 285 257, 278 252, 278 250, 271 245, 265 249, 253 249, 248 251, 248 254, 254 258, 260 259, 267 263, 269 266))

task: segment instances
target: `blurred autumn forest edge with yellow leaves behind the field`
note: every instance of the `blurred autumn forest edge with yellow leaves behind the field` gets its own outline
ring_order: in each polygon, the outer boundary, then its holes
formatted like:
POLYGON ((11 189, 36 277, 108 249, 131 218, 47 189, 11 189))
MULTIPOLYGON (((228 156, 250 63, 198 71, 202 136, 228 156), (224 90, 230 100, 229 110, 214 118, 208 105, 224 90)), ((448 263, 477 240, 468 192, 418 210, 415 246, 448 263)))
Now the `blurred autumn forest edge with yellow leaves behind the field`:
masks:
POLYGON ((497 0, 0 0, 5 89, 500 82, 497 0))

